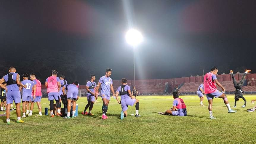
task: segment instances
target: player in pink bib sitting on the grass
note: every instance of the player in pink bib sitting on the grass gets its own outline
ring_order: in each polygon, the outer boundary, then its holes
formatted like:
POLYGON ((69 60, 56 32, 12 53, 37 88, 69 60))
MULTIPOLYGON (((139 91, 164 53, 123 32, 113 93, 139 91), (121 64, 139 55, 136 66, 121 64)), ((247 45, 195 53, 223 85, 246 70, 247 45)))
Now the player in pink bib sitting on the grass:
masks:
POLYGON ((187 108, 183 101, 183 99, 179 98, 178 92, 173 92, 172 97, 174 99, 173 106, 170 110, 167 110, 166 112, 158 112, 158 114, 162 115, 172 115, 172 116, 187 116, 187 108), (177 110, 175 110, 177 108, 177 110))

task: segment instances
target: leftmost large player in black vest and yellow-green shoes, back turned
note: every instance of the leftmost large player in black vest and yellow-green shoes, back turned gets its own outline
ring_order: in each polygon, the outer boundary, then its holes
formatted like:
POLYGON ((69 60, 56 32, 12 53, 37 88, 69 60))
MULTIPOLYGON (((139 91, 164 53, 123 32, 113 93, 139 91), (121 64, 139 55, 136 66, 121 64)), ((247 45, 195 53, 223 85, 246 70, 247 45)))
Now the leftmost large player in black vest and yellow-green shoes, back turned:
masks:
POLYGON ((12 105, 12 102, 14 101, 16 105, 16 114, 17 114, 17 123, 24 122, 23 120, 20 119, 20 91, 18 85, 26 88, 27 86, 23 85, 20 82, 20 75, 16 72, 15 67, 10 67, 9 68, 9 74, 5 75, 2 79, 0 79, 0 87, 5 89, 7 92, 6 95, 6 100, 7 100, 7 107, 6 107, 6 124, 10 124, 10 108, 12 105), (6 82, 7 86, 5 87, 3 83, 6 82), (9 91, 8 91, 9 89, 9 91))

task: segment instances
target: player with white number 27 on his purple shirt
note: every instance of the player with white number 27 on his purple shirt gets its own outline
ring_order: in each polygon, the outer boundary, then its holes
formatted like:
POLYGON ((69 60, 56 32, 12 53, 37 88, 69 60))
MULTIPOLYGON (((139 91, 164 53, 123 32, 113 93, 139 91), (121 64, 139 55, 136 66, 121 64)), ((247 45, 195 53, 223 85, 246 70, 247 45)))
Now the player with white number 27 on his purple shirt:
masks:
MULTIPOLYGON (((29 102, 30 102, 30 99, 31 99, 31 96, 32 96, 32 88, 33 88, 33 83, 31 80, 28 80, 28 74, 25 73, 22 75, 23 76, 23 81, 21 81, 21 83, 23 85, 26 85, 27 88, 23 88, 23 91, 22 91, 22 110, 23 110, 23 116, 21 118, 25 118, 26 115, 29 114, 29 102)), ((21 91, 22 87, 20 86, 20 91, 21 91)), ((28 116, 32 116, 32 113, 31 115, 28 115, 28 116)))

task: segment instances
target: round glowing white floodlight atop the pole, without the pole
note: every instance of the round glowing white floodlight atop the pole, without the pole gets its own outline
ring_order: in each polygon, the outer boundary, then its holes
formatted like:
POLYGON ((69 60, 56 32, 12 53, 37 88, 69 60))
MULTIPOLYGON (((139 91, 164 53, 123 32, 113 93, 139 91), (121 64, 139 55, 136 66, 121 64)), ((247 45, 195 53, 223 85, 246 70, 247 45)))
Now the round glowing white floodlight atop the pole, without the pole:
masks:
POLYGON ((125 35, 125 39, 129 45, 137 46, 143 41, 142 34, 136 29, 130 29, 125 35))

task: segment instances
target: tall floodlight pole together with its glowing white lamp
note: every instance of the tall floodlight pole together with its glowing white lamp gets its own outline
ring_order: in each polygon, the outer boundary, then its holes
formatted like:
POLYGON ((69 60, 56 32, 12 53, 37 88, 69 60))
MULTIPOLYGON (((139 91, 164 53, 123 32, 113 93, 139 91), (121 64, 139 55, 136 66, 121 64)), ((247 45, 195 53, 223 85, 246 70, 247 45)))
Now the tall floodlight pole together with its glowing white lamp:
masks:
POLYGON ((135 47, 143 40, 142 34, 136 29, 129 29, 125 35, 126 42, 133 47, 133 86, 135 86, 135 47))

